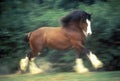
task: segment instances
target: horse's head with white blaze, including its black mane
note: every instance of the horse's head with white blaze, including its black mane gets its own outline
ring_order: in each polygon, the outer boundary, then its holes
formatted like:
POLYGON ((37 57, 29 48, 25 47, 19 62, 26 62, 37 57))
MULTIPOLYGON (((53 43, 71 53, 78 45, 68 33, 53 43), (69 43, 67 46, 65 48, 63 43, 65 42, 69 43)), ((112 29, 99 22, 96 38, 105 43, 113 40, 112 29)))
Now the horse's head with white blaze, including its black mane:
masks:
POLYGON ((88 36, 92 34, 90 19, 90 14, 86 13, 85 11, 76 10, 63 17, 61 22, 65 27, 69 27, 71 23, 74 23, 76 27, 82 29, 83 33, 88 36))

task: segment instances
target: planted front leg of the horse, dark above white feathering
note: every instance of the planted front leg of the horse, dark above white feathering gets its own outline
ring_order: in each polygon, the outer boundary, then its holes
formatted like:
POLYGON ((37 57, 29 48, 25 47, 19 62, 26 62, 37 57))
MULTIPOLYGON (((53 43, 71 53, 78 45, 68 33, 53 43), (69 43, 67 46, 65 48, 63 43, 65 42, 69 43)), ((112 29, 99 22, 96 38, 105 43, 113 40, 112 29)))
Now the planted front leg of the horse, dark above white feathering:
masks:
POLYGON ((76 65, 74 67, 74 69, 77 73, 89 72, 89 69, 84 66, 82 57, 83 57, 83 53, 78 52, 77 58, 76 58, 76 61, 75 61, 76 65))

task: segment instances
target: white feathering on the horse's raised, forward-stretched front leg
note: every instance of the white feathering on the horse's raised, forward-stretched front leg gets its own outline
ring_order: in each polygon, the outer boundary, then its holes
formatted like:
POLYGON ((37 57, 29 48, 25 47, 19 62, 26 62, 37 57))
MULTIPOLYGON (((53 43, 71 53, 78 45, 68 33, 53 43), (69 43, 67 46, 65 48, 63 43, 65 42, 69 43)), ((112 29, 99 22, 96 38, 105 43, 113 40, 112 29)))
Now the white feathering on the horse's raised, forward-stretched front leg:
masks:
POLYGON ((94 68, 97 69, 97 68, 103 67, 103 63, 91 51, 90 51, 90 53, 87 56, 90 59, 90 61, 91 61, 91 63, 92 63, 94 68))

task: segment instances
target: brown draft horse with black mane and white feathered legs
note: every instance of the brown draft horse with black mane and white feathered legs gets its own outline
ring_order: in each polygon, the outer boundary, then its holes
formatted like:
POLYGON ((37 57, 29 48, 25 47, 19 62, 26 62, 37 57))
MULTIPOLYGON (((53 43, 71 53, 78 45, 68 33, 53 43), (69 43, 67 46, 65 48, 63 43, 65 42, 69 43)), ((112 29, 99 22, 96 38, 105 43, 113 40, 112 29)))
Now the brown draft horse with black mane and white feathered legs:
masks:
MULTIPOLYGON (((89 51, 84 53, 86 49, 85 39, 92 34, 91 15, 82 10, 75 10, 64 16, 61 19, 61 24, 61 27, 40 27, 27 34, 26 41, 29 43, 31 51, 27 53, 25 59, 20 61, 21 71, 26 71, 28 62, 33 62, 35 57, 47 47, 59 50, 74 48, 77 51, 75 68, 78 73, 89 71, 83 65, 82 54, 87 54, 92 64, 95 65, 94 59, 97 57, 89 51)), ((96 62, 97 66, 101 64, 99 60, 96 62)), ((32 65, 36 66, 33 63, 32 65)))

